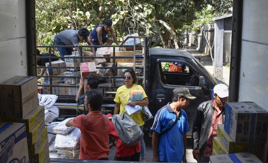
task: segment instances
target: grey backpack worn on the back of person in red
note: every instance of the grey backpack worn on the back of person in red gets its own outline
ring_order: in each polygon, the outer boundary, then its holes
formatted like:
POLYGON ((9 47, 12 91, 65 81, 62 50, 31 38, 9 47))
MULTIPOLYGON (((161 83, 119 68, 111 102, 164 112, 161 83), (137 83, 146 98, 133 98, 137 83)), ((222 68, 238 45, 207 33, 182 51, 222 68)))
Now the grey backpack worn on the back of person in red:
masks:
POLYGON ((143 132, 127 113, 113 115, 112 122, 125 146, 134 146, 143 138, 143 132))

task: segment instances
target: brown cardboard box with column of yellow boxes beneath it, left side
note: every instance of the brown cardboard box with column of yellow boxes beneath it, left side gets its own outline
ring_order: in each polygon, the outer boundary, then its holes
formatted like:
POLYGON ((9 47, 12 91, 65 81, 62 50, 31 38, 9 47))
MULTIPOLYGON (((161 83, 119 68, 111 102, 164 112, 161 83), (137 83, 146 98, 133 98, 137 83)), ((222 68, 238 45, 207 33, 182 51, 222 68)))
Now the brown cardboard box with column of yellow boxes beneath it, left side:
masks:
POLYGON ((49 156, 44 154, 49 149, 48 146, 43 146, 48 141, 48 131, 44 123, 45 108, 38 105, 36 77, 17 76, 0 83, 0 87, 0 99, 3 101, 0 103, 1 121, 24 123, 27 138, 25 151, 29 163, 48 163, 49 156))

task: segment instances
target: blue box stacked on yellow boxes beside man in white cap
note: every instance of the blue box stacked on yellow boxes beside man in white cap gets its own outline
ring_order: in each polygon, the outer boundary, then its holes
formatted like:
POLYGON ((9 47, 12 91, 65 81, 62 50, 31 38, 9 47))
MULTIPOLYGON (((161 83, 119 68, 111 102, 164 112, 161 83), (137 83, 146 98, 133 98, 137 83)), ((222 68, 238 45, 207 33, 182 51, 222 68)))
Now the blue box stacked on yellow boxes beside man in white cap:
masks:
POLYGON ((217 137, 213 140, 212 155, 247 152, 261 159, 267 129, 268 111, 254 102, 228 102, 224 124, 218 125, 217 137))

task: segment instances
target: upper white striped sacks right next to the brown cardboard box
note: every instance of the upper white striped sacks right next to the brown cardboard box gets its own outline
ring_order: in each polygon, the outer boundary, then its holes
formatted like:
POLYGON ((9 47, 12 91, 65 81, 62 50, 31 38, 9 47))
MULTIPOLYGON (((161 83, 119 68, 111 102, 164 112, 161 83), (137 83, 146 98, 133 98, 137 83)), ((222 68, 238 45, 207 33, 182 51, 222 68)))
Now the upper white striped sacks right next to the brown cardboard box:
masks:
POLYGON ((39 94, 39 105, 45 106, 45 124, 50 123, 59 117, 59 108, 53 106, 58 99, 54 94, 39 94))

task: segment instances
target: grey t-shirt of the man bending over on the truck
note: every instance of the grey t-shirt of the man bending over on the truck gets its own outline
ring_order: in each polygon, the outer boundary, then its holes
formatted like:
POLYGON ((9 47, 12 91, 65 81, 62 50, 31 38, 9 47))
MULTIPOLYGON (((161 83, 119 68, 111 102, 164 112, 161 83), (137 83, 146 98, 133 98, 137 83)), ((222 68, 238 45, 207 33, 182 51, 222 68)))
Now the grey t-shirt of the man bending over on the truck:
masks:
MULTIPOLYGON (((87 40, 88 38, 85 39, 85 41, 87 40)), ((62 42, 65 45, 79 45, 78 30, 67 29, 61 31, 55 36, 54 41, 62 42)))

